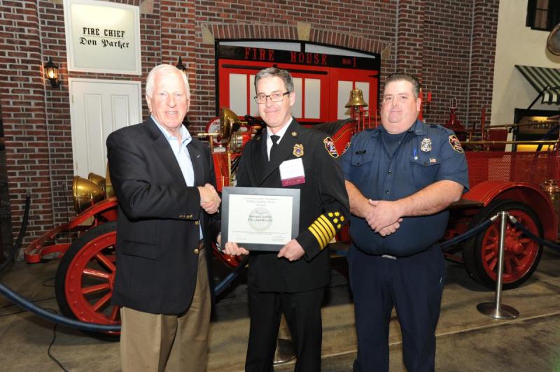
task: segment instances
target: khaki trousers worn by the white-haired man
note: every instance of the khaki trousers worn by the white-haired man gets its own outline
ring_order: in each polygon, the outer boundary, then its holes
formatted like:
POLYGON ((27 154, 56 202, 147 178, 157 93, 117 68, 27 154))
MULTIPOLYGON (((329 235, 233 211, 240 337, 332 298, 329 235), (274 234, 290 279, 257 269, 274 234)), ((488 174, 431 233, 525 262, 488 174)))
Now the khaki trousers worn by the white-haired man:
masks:
POLYGON ((123 372, 206 371, 210 302, 206 257, 202 251, 195 296, 184 315, 120 309, 123 372))

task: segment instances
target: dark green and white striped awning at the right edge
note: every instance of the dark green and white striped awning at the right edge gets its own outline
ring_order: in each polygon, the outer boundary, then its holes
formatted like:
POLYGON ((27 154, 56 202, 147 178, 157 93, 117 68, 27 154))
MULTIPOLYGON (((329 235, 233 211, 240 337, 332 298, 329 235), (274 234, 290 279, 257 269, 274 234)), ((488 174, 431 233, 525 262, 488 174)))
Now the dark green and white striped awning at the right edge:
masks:
POLYGON ((560 103, 560 69, 518 64, 515 67, 537 92, 542 92, 542 103, 560 103))

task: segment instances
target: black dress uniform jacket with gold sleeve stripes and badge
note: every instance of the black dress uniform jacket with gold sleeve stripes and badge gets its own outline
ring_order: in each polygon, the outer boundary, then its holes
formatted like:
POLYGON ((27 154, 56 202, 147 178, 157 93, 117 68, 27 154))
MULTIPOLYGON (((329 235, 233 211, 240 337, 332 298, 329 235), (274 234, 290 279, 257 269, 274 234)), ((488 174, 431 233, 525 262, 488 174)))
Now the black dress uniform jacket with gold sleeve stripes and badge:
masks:
POLYGON ((330 280, 330 259, 324 248, 348 220, 349 201, 342 171, 324 140, 324 133, 304 128, 292 120, 273 162, 267 160, 266 131, 255 136, 243 150, 237 186, 283 187, 279 166, 297 157, 302 159, 305 173, 305 183, 288 186, 300 189, 300 227, 296 240, 305 255, 289 262, 276 257, 277 253, 251 252, 248 280, 259 291, 303 292, 323 287, 330 280))

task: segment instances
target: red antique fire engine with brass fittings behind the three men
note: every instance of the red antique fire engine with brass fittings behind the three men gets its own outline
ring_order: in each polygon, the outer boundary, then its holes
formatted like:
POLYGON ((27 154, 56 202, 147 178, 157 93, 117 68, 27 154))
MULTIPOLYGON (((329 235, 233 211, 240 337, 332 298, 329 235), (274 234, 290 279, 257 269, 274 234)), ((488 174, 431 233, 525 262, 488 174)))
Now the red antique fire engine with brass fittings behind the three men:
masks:
MULTIPOLYGON (((360 92, 352 92, 347 106, 351 108, 351 119, 315 126, 328 132, 339 153, 344 151, 353 133, 377 124, 377 118, 370 117, 365 109, 367 103, 360 92)), ((235 167, 241 148, 259 129, 258 120, 247 117, 246 122, 241 122, 235 113, 223 108, 218 133, 202 134, 210 138, 209 143, 214 148, 218 189, 235 185, 235 167)), ((559 188, 549 180, 560 179, 558 141, 545 143, 552 143, 545 151, 505 151, 506 141, 493 141, 493 136, 498 133, 496 130, 503 133, 503 128, 479 129, 477 134, 481 141, 472 141, 475 136, 470 131, 471 141, 463 143, 468 150, 470 190, 461 201, 451 206, 451 219, 444 240, 463 234, 500 210, 507 210, 533 234, 556 242, 558 210, 555 210, 550 196, 555 196, 559 188), (547 186, 548 192, 543 185, 547 186)), ((31 243, 25 249, 25 259, 39 262, 49 254, 62 257, 55 291, 64 315, 85 322, 118 324, 118 308, 110 303, 116 273, 117 201, 113 197, 109 175, 102 178, 90 173, 89 180, 76 176, 73 196, 78 215, 31 243), (71 243, 57 243, 60 236, 69 232, 77 233, 78 238, 71 243)), ((347 234, 339 238, 347 240, 347 234)), ((451 247, 446 255, 463 262, 474 280, 493 287, 498 238, 496 222, 467 243, 451 247), (458 255, 461 251, 462 255, 458 255)), ((214 255, 230 269, 239 265, 238 259, 218 250, 214 250, 214 255)), ((527 280, 537 268, 541 255, 542 245, 508 226, 504 287, 517 287, 527 280)))

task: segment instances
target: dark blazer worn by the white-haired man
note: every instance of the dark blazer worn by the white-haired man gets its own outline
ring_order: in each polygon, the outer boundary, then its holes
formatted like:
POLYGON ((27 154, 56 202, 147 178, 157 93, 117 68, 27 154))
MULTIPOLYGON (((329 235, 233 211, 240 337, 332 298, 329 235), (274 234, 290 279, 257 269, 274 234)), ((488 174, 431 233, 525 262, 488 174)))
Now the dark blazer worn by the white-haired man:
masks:
POLYGON ((113 304, 169 315, 190 306, 200 224, 207 248, 202 252, 211 254, 220 220, 200 208, 197 189, 216 184, 209 148, 196 138, 187 148, 194 187, 187 187, 167 139, 151 118, 107 138, 109 172, 118 198, 113 304))

